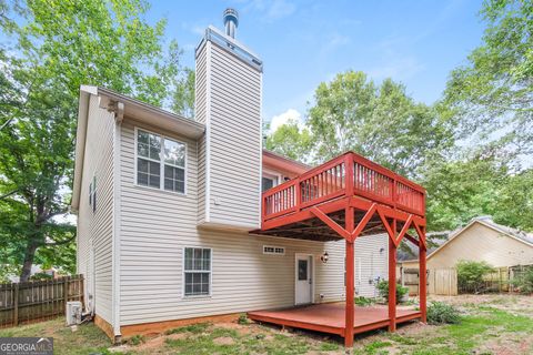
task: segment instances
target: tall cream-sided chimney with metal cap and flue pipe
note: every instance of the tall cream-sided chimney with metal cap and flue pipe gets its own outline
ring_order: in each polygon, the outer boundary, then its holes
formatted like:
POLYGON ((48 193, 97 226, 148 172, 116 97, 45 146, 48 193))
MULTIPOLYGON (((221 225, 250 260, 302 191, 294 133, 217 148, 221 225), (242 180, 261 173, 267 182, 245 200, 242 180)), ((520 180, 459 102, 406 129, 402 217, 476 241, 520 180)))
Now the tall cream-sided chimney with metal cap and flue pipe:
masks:
POLYGON ((261 87, 263 63, 234 39, 238 13, 224 11, 225 32, 212 26, 195 50, 198 224, 243 230, 261 224, 261 87))

